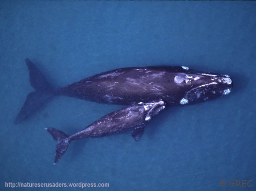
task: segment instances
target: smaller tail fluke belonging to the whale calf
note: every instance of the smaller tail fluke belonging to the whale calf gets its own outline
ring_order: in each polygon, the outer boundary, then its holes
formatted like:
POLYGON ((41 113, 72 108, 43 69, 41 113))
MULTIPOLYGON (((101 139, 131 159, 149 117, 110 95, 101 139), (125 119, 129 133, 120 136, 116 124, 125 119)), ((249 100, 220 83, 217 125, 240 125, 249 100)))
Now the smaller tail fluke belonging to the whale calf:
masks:
POLYGON ((45 128, 45 130, 52 135, 53 139, 58 142, 56 147, 56 155, 54 159, 54 164, 59 162, 60 158, 66 152, 71 139, 69 136, 62 131, 59 131, 54 128, 45 128))

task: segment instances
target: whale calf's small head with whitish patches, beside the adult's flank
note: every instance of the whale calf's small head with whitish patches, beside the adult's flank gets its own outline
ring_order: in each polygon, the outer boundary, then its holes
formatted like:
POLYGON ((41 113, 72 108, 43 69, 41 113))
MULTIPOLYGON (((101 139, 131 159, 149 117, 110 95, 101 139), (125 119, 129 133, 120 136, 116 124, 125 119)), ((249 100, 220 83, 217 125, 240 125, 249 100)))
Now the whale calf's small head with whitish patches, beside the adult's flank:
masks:
POLYGON ((139 102, 138 105, 144 107, 145 121, 149 121, 152 116, 158 115, 165 108, 165 102, 161 99, 149 103, 139 102))

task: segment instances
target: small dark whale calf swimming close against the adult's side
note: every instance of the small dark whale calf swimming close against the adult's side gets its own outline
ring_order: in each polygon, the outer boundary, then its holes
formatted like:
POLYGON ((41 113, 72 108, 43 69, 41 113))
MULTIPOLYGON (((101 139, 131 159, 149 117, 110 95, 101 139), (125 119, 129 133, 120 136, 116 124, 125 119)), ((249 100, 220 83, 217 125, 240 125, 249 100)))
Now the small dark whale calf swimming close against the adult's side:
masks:
POLYGON ((165 103, 163 100, 150 103, 139 102, 105 115, 84 130, 71 136, 54 128, 45 128, 53 136, 54 140, 58 142, 54 164, 60 160, 70 142, 75 139, 103 137, 133 130, 132 137, 138 141, 144 132, 146 123, 164 108, 165 103))

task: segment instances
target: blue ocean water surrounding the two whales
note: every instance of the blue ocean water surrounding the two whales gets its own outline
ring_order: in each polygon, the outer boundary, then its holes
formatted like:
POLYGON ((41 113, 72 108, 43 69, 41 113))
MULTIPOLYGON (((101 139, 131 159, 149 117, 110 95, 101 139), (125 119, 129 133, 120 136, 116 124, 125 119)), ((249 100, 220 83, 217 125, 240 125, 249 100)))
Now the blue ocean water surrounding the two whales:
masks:
POLYGON ((73 189, 86 191, 256 190, 255 10, 255 1, 1 0, 0 190, 11 190, 10 182, 109 183, 73 189), (122 106, 60 96, 15 125, 33 91, 26 57, 55 87, 120 67, 186 65, 228 74, 234 88, 168 108, 138 142, 130 132, 74 141, 53 165, 56 142, 45 127, 73 134, 122 106))

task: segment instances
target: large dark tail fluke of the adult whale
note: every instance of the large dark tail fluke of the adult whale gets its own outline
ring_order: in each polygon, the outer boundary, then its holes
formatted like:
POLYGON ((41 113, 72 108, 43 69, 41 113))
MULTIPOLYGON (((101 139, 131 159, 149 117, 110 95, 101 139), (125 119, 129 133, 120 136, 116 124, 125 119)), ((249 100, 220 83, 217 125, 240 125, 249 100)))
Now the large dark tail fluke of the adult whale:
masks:
POLYGON ((56 94, 53 87, 48 83, 35 64, 33 64, 28 58, 25 59, 25 62, 29 70, 30 84, 35 91, 31 92, 27 96, 20 113, 15 119, 16 124, 29 119, 46 103, 50 102, 56 94))

